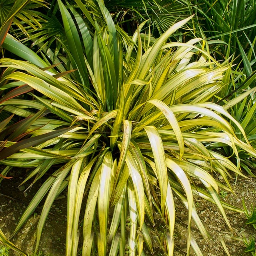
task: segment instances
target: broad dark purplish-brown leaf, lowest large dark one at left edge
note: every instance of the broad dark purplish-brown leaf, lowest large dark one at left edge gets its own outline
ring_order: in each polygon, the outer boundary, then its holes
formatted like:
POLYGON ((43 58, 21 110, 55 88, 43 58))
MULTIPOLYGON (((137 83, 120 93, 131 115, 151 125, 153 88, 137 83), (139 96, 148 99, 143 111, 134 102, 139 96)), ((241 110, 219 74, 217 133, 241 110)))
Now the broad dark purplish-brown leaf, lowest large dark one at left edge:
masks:
POLYGON ((40 143, 43 143, 45 141, 48 141, 52 138, 58 137, 58 136, 62 135, 63 133, 66 133, 66 132, 74 129, 75 127, 77 127, 77 126, 62 128, 59 130, 55 130, 52 132, 48 132, 46 134, 41 134, 38 136, 30 137, 28 139, 17 142, 7 148, 4 148, 1 151, 0 160, 6 158, 8 156, 11 156, 12 154, 18 152, 19 150, 21 150, 23 148, 32 147, 32 146, 38 145, 40 143))

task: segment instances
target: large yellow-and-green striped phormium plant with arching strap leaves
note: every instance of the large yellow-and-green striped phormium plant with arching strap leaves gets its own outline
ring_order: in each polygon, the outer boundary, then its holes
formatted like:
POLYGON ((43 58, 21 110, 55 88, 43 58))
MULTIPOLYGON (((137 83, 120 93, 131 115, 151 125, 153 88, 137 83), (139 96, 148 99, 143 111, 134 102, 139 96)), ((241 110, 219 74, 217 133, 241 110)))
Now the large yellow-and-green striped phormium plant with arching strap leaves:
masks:
POLYGON ((68 187, 66 255, 77 255, 80 236, 82 255, 124 255, 127 235, 130 255, 145 255, 143 241, 153 252, 144 220, 146 215, 153 225, 155 212, 166 223, 168 255, 173 255, 175 194, 188 210, 187 255, 190 245, 202 255, 191 234, 191 219, 204 237, 208 234, 194 195, 215 202, 231 229, 224 208, 241 211, 220 201, 219 186, 232 192, 230 172, 244 176, 239 161, 236 166, 207 146, 221 142, 237 158, 237 147, 256 156, 228 106, 209 101, 225 86, 222 79, 230 76, 230 64, 216 61, 201 47, 201 38, 166 43, 191 17, 174 24, 151 46, 150 34, 141 40, 145 23, 125 41, 102 1, 97 2, 98 12, 91 13, 80 0, 75 2, 79 9, 58 0, 66 35, 61 42, 64 56, 43 47, 41 59, 10 35, 3 44, 24 60, 0 60, 5 68, 2 90, 25 84, 33 91, 26 92, 26 99, 5 98, 0 104, 3 113, 29 120, 22 134, 4 130, 0 163, 31 168, 23 181, 34 177, 31 186, 58 166, 29 203, 12 237, 47 195, 37 226, 37 250, 50 208, 68 187), (216 181, 212 172, 221 174, 226 184, 216 181), (197 187, 194 179, 206 189, 197 187))

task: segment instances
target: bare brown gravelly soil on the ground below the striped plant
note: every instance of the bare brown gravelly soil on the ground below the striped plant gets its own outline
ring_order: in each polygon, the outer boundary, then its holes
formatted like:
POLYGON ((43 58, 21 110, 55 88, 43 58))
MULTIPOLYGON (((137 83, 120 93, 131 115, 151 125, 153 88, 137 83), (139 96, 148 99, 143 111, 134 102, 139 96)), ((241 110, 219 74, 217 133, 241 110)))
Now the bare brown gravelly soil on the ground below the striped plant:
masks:
MULTIPOLYGON (((25 191, 25 186, 19 187, 23 180, 21 171, 9 173, 15 176, 9 180, 3 180, 0 184, 0 228, 8 237, 15 229, 19 218, 21 217, 26 206, 35 195, 40 183, 36 183, 30 190, 25 191), (17 174, 18 173, 18 174, 17 174)), ((238 179, 236 185, 233 183, 234 194, 224 193, 220 189, 221 199, 231 205, 243 209, 242 199, 248 209, 256 206, 256 178, 248 180, 238 179)), ((65 255, 65 232, 66 232, 66 193, 64 191, 52 206, 48 219, 45 223, 43 233, 40 240, 40 256, 63 256, 65 255)), ((187 244, 187 217, 186 209, 175 199, 176 203, 176 223, 175 223, 175 256, 186 255, 187 244)), ((227 255, 224 250, 223 243, 231 256, 251 255, 244 253, 246 248, 243 239, 255 238, 255 229, 252 225, 246 225, 246 216, 243 213, 237 213, 226 210, 227 217, 232 226, 229 230, 220 211, 216 205, 198 198, 195 201, 197 205, 198 215, 209 232, 210 238, 203 239, 198 231, 195 223, 192 222, 192 236, 198 243, 203 255, 217 256, 227 255), (221 242, 222 240, 222 242, 221 242)), ((36 243, 36 226, 40 217, 41 207, 39 206, 33 216, 31 216, 23 228, 11 240, 16 246, 25 250, 29 255, 33 255, 36 243)), ((165 224, 157 220, 156 226, 152 227, 147 223, 148 229, 152 236, 154 253, 153 255, 165 255, 165 224)), ((146 255, 151 255, 148 248, 144 247, 146 255)), ((10 251, 11 255, 19 255, 10 251)), ((193 249, 190 249, 190 255, 195 255, 193 249)))

